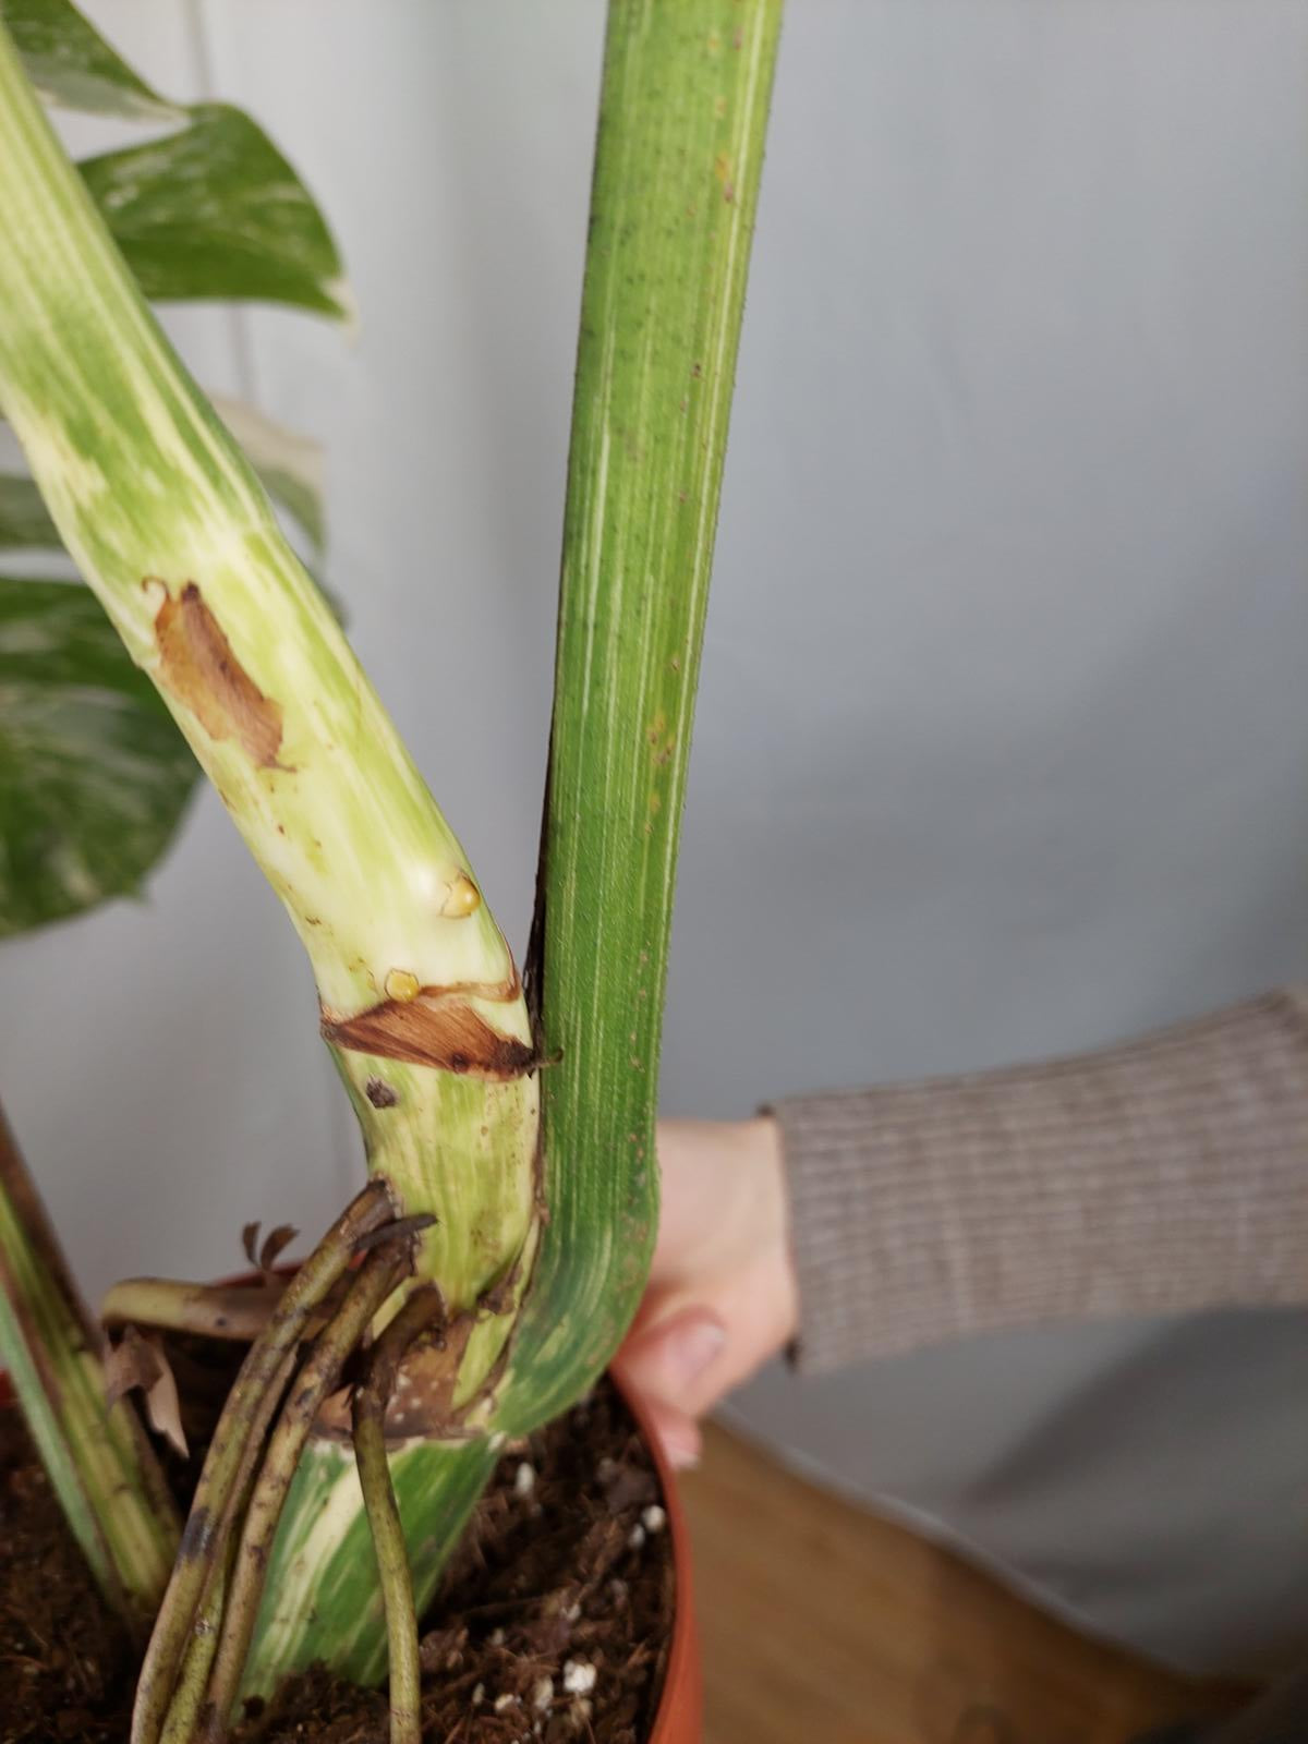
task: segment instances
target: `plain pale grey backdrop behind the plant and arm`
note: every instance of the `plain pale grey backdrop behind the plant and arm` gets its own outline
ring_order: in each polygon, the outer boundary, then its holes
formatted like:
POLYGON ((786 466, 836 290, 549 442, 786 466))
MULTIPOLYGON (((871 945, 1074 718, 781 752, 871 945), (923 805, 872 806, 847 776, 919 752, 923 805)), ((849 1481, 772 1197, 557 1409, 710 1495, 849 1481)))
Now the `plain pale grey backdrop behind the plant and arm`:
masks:
MULTIPOLYGON (((94 10, 248 103, 333 216, 354 345, 267 312, 187 340, 326 441, 333 586, 521 942, 602 5, 94 10)), ((1306 49, 1296 0, 792 0, 670 1111, 1308 971, 1306 49)), ((148 909, 0 973, 0 1083, 92 1289, 345 1195, 298 947, 208 797, 148 909)), ((1100 1627, 1247 1660, 1308 1622, 1301 1339, 1043 1331, 743 1411, 1100 1627)))

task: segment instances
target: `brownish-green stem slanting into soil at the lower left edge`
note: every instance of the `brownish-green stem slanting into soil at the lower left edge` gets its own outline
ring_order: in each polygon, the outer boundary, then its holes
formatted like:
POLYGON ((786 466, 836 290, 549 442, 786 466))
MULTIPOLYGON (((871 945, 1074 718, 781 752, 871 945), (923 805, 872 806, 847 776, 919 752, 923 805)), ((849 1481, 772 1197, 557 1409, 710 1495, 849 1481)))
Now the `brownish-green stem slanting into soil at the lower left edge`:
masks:
POLYGON ((133 1404, 106 1402, 99 1348, 0 1111, 0 1366, 96 1584, 145 1634, 167 1584, 178 1517, 133 1404))

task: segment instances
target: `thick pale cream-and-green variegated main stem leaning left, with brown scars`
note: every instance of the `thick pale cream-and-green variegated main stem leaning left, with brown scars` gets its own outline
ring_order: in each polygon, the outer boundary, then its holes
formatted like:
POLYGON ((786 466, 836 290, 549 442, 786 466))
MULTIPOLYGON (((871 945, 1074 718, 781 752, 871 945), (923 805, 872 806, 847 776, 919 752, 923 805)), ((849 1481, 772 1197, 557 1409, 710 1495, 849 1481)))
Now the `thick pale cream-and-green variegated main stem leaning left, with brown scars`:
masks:
MULTIPOLYGON (((467 1338, 431 1376, 426 1439, 415 1432, 399 1488, 460 1519, 474 1463, 462 1437, 494 1413, 542 1224, 535 1038, 518 971, 459 839, 141 302, 3 28, 0 412, 296 928, 368 1168, 403 1210, 438 1219, 415 1275, 439 1284, 467 1338), (438 1439, 446 1428, 457 1442, 438 1439)), ((501 684, 487 673, 488 712, 502 706, 501 684)), ((476 717, 450 722, 445 753, 462 757, 476 732, 476 717)), ((337 1557, 354 1524, 366 1536, 352 1463, 314 1437, 307 1465, 251 1657, 260 1692, 291 1664, 375 1674, 384 1662, 371 1561, 349 1575, 337 1557), (349 1591, 331 1610, 316 1603, 328 1575, 349 1591)), ((419 1591, 431 1591, 446 1521, 413 1517, 410 1542, 419 1591)))

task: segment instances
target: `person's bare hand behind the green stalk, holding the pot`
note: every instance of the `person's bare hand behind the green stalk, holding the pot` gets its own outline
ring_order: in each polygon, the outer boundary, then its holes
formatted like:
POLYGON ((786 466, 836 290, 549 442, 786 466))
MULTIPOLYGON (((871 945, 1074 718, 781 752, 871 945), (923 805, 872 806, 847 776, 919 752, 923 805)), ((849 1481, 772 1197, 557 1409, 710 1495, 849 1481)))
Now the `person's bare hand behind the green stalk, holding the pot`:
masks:
POLYGON ((685 1467, 699 1458, 701 1413, 794 1338, 799 1287, 773 1118, 659 1121, 657 1149, 654 1264, 614 1366, 685 1467))

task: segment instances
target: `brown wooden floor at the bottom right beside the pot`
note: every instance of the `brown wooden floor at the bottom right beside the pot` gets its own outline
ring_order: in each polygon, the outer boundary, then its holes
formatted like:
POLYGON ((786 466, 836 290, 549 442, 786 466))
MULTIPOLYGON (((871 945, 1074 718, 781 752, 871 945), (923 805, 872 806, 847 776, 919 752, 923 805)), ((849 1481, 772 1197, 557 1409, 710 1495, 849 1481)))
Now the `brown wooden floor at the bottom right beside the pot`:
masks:
POLYGON ((705 1744, 1125 1744, 1231 1706, 710 1427, 682 1482, 705 1744))

